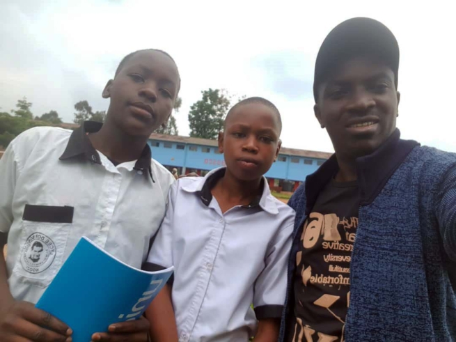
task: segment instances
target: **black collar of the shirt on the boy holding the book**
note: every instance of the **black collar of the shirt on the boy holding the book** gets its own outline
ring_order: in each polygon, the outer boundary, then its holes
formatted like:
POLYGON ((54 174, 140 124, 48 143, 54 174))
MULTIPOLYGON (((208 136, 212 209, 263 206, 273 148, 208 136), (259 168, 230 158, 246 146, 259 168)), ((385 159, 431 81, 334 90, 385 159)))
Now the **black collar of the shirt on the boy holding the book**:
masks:
MULTIPOLYGON (((95 121, 85 121, 80 127, 74 130, 68 140, 65 151, 60 157, 60 160, 68 160, 74 157, 84 156, 86 160, 90 160, 96 164, 101 164, 100 155, 97 153, 95 148, 93 148, 91 140, 87 137, 87 133, 98 132, 102 125, 102 123, 97 123, 95 121)), ((133 169, 138 171, 145 171, 148 169, 150 173, 151 158, 152 153, 150 152, 150 147, 146 144, 141 156, 138 160, 136 160, 133 169)), ((152 174, 150 176, 152 176, 152 174)))

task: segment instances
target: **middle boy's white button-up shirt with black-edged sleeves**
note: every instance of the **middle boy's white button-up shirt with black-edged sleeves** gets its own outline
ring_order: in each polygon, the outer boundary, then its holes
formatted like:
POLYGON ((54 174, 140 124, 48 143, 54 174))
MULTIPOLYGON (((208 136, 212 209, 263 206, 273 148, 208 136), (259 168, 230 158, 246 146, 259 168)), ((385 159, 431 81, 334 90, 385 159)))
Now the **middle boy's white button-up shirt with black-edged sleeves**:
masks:
POLYGON ((145 267, 175 267, 172 299, 181 342, 248 341, 257 319, 280 318, 285 302, 294 210, 275 199, 264 180, 260 198, 222 214, 210 189, 223 173, 171 186, 145 267))

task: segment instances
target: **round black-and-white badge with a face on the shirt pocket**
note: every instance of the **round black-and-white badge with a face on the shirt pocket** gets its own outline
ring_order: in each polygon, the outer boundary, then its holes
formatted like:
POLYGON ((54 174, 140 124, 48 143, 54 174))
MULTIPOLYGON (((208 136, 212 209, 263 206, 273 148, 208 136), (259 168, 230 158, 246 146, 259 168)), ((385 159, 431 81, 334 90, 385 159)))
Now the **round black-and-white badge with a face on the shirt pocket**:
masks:
POLYGON ((56 245, 47 235, 33 233, 27 238, 21 251, 24 270, 36 274, 49 268, 56 258, 56 245))

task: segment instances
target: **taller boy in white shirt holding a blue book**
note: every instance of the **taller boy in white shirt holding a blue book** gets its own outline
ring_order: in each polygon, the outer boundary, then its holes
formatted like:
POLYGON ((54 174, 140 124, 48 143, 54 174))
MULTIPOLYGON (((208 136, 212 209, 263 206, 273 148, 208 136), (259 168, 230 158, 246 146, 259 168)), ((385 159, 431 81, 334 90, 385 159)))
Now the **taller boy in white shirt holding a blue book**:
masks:
MULTIPOLYGON (((1 342, 71 341, 71 327, 33 304, 81 236, 134 267, 146 261, 174 182, 147 141, 168 121, 179 88, 166 52, 133 52, 104 88, 104 124, 36 127, 10 143, 0 160, 1 342)), ((148 341, 148 330, 142 318, 92 339, 148 341)))

